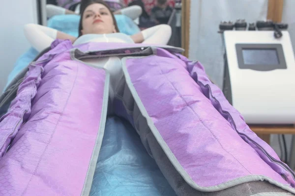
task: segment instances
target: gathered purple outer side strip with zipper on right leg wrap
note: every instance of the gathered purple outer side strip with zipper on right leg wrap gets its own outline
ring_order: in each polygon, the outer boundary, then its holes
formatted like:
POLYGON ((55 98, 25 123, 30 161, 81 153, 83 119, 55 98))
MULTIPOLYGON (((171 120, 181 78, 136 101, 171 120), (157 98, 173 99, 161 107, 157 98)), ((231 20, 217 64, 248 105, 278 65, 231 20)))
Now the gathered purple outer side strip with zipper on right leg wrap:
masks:
MULTIPOLYGON (((181 57, 185 58, 185 57, 181 57)), ((276 172, 282 174, 292 186, 295 186, 294 178, 291 172, 283 169, 278 164, 271 161, 263 152, 263 150, 255 145, 252 141, 256 142, 261 146, 270 156, 272 156, 281 165, 286 168, 288 166, 280 161, 275 151, 266 142, 261 140, 253 131, 250 130, 249 126, 244 122, 241 114, 227 101, 222 91, 208 79, 204 67, 199 62, 187 62, 188 70, 191 77, 201 86, 204 95, 210 99, 213 106, 219 111, 219 113, 231 123, 231 126, 241 134, 241 138, 246 141, 251 147, 253 147, 261 156, 261 158, 276 172), (247 136, 247 137, 246 137, 247 136), (249 139, 250 138, 250 139, 249 139), (252 140, 252 141, 251 141, 252 140)), ((290 170, 292 171, 292 170, 290 170)), ((294 173, 294 172, 292 172, 294 173)))

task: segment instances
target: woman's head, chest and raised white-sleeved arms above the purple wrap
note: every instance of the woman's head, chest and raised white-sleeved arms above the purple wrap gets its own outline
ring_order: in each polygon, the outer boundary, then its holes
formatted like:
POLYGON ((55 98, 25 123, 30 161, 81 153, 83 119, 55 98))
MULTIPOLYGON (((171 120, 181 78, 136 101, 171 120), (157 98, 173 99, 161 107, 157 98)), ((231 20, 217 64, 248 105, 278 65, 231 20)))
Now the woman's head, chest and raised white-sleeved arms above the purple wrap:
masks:
POLYGON ((171 37, 169 25, 157 25, 135 35, 120 33, 114 15, 104 2, 92 3, 81 13, 79 37, 65 34, 56 29, 42 25, 25 25, 25 35, 30 44, 42 51, 55 39, 69 39, 74 45, 87 42, 120 42, 166 45, 171 37))

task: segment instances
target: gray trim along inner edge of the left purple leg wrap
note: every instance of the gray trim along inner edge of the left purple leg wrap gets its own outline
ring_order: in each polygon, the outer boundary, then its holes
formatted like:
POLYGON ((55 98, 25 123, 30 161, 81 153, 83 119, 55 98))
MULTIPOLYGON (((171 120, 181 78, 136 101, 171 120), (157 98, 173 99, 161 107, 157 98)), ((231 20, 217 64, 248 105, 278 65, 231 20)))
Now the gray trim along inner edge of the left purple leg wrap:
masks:
POLYGON ((97 137, 96 137, 95 145, 93 147, 92 156, 91 156, 90 161, 89 161, 89 167, 88 167, 88 171, 87 171, 85 181, 84 181, 84 186, 83 186, 82 193, 81 193, 81 196, 89 196, 91 186, 92 186, 93 176, 94 176, 94 172, 95 172, 95 168, 96 168, 96 163, 97 163, 100 147, 101 147, 101 144, 102 144, 102 139, 103 139, 103 135, 104 135, 106 120, 107 120, 107 110, 108 110, 108 101, 109 101, 109 86, 110 86, 110 73, 104 68, 95 67, 95 66, 93 66, 91 64, 85 63, 85 62, 80 61, 80 60, 78 60, 76 58, 73 58, 72 60, 83 63, 83 64, 85 64, 85 65, 87 65, 89 67, 104 70, 105 73, 106 73, 105 85, 104 85, 104 91, 103 91, 102 111, 101 111, 98 134, 97 134, 97 137))

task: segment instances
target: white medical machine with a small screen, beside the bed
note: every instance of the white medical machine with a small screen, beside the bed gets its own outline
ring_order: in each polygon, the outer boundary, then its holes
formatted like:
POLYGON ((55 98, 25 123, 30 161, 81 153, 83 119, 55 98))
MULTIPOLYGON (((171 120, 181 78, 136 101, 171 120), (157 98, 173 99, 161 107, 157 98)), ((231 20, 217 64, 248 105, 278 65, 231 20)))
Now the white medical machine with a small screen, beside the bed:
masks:
POLYGON ((279 33, 223 31, 223 92, 248 124, 295 124, 294 51, 289 32, 279 33))

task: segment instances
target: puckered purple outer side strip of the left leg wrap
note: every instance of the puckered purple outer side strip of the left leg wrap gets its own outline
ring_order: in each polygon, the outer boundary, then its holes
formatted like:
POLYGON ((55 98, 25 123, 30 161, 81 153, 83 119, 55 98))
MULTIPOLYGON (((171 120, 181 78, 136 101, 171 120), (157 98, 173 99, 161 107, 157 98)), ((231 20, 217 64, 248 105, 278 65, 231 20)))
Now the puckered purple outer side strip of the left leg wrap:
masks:
POLYGON ((18 88, 16 98, 11 102, 8 112, 0 119, 0 160, 24 119, 29 117, 31 99, 36 95, 42 71, 43 68, 40 66, 29 67, 29 72, 18 88))

